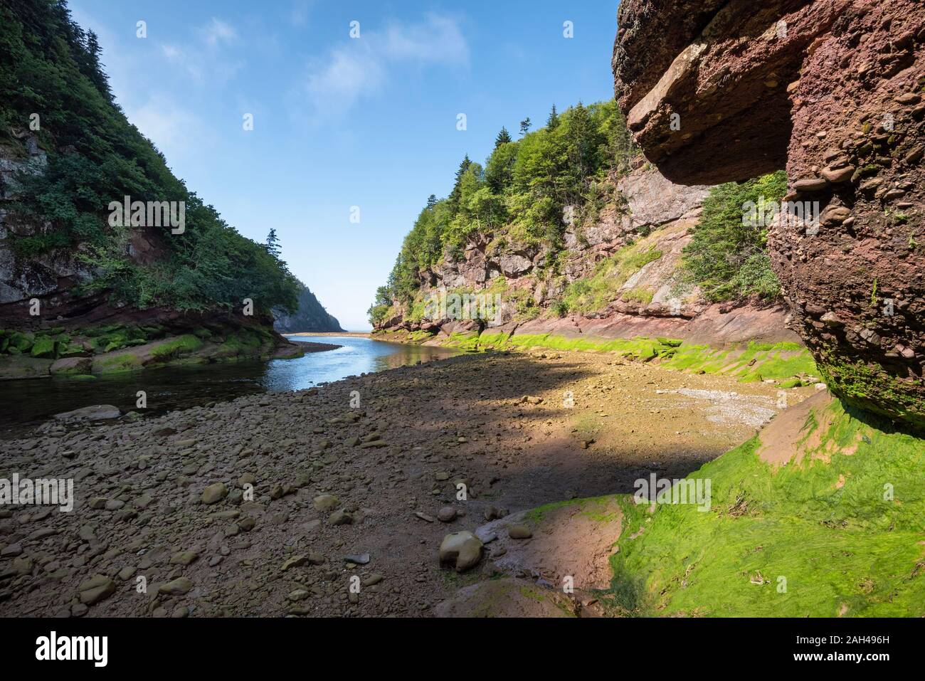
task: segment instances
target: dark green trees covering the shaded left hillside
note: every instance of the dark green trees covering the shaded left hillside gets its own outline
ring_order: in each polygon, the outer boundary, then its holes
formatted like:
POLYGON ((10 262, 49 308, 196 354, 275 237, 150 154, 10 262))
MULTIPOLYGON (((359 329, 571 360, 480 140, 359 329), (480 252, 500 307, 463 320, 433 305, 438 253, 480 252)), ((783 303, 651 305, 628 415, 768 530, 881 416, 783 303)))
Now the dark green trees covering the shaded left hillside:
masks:
MULTIPOLYGON (((261 310, 294 309, 297 282, 268 248, 242 237, 166 167, 165 158, 113 102, 93 32, 70 19, 64 0, 14 0, 0 6, 0 130, 37 133, 48 163, 20 173, 18 216, 48 223, 41 235, 10 237, 19 257, 81 247, 100 276, 89 288, 121 303, 181 310, 230 309, 243 298, 261 310), (185 202, 185 231, 111 227, 109 204, 185 202), (153 264, 129 257, 133 229, 161 254, 153 264)), ((2 140, 0 140, 2 141, 2 140)), ((13 149, 21 143, 6 142, 13 149)))

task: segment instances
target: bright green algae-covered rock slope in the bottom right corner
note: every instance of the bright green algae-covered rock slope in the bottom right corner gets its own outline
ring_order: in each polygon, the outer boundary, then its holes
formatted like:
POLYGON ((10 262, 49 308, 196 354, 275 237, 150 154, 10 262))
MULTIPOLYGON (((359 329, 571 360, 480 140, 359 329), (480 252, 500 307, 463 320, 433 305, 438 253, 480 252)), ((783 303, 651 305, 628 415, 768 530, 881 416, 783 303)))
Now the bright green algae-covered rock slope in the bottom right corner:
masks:
POLYGON ((615 604, 643 616, 925 615, 925 440, 837 400, 810 411, 800 436, 796 463, 763 462, 756 437, 689 476, 710 479, 707 512, 623 497, 615 604))

